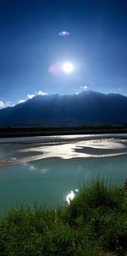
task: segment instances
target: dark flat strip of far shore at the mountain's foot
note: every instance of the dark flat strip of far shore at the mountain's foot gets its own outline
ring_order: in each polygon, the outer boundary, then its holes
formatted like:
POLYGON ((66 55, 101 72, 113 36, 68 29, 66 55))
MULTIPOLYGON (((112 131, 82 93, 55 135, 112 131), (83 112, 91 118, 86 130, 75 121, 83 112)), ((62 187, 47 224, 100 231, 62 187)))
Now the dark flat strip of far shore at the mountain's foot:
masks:
POLYGON ((1 127, 0 138, 73 134, 124 134, 127 125, 84 125, 77 127, 1 127))

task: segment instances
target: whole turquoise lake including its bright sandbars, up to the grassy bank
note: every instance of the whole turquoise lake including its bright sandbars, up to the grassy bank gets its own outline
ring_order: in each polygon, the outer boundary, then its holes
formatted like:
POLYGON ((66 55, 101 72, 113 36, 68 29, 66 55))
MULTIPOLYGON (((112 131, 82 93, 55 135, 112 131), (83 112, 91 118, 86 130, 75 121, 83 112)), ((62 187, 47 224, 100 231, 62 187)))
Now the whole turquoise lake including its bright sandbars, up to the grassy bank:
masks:
POLYGON ((94 177, 122 185, 127 134, 0 139, 0 213, 20 203, 55 208, 94 177))

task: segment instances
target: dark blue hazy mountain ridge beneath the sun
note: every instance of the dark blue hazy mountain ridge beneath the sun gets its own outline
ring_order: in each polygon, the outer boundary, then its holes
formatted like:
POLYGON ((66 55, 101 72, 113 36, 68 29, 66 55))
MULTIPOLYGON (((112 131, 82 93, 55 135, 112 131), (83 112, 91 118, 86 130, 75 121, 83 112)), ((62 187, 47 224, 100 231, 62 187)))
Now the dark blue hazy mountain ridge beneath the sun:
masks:
POLYGON ((38 95, 0 111, 0 125, 127 123, 127 97, 92 91, 38 95))

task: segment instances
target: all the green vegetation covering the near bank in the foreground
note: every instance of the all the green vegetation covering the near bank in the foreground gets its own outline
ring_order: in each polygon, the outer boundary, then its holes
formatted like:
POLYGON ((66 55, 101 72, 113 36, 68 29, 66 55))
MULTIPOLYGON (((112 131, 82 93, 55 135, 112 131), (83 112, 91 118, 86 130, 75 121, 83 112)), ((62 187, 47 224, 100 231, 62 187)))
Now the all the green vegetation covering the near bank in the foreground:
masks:
POLYGON ((127 182, 121 188, 96 179, 63 208, 21 206, 6 213, 0 220, 0 255, 124 256, 126 213, 127 182))

